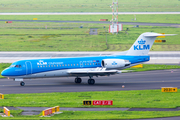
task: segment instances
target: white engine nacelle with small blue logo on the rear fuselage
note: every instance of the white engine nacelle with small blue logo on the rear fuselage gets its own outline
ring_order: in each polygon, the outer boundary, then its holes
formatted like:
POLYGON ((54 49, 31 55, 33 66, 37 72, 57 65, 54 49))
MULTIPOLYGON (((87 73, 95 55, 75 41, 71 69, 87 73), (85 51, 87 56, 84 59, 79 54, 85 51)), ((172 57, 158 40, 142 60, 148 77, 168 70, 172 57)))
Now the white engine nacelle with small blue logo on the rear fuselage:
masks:
POLYGON ((106 69, 118 69, 130 65, 129 60, 123 59, 104 59, 101 62, 102 67, 106 69))

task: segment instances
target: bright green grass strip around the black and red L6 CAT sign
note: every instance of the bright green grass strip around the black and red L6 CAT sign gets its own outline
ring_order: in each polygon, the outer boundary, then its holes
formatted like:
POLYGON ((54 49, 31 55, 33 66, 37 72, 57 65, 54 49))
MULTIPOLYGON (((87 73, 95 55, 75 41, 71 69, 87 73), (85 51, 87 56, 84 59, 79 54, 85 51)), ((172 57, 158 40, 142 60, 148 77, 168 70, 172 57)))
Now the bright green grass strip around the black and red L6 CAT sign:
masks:
MULTIPOLYGON (((121 86, 120 86, 121 87, 121 86)), ((83 106, 83 100, 113 100, 116 108, 176 108, 180 106, 180 92, 162 93, 159 90, 54 92, 5 94, 0 106, 23 107, 100 107, 83 106)))

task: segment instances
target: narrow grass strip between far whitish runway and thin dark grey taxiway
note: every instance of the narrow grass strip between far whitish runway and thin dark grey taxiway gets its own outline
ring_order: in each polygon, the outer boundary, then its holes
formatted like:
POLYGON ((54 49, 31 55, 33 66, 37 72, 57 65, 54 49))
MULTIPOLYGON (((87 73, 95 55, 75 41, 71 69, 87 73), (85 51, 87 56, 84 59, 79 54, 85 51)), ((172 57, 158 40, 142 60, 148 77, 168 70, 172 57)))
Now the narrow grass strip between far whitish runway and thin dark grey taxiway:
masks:
MULTIPOLYGON (((0 20, 61 20, 61 21, 99 21, 112 19, 112 15, 1 15, 0 20)), ((118 15, 119 22, 175 23, 180 24, 180 15, 118 15), (132 20, 133 19, 133 20, 132 20)), ((111 24, 111 23, 109 23, 111 24)))

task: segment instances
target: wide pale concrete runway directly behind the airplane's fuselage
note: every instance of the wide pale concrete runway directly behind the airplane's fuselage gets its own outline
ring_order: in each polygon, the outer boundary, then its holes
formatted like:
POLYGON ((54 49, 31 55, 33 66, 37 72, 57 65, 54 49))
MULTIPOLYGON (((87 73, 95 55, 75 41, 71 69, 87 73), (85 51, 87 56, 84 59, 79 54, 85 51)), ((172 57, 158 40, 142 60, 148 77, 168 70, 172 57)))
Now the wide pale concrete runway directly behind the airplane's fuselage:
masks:
MULTIPOLYGON (((24 59, 43 59, 43 58, 65 58, 65 57, 84 57, 102 56, 117 54, 113 52, 0 52, 0 63, 13 63, 24 59)), ((145 64, 180 64, 180 51, 149 52, 150 61, 145 64)))

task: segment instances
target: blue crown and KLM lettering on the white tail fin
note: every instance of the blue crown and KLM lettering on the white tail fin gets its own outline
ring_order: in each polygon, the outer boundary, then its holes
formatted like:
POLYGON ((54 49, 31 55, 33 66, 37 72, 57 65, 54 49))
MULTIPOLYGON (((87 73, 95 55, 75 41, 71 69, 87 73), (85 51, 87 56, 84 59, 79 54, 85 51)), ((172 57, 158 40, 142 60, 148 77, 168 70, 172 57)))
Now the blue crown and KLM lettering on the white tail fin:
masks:
POLYGON ((134 50, 149 50, 150 45, 146 45, 146 40, 141 39, 138 41, 139 45, 134 45, 134 50))

